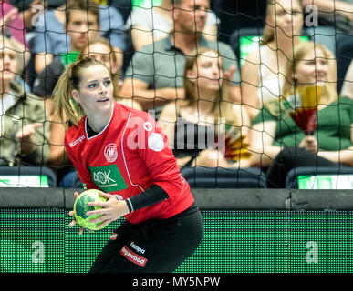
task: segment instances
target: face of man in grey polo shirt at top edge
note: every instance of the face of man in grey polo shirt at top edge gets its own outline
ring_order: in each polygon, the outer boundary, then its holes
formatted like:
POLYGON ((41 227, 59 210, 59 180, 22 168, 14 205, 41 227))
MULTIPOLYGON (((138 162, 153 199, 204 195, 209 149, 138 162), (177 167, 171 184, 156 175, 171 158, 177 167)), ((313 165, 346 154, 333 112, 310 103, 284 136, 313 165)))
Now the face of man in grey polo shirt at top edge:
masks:
POLYGON ((185 33, 202 32, 209 9, 209 0, 183 0, 174 10, 175 30, 185 33))

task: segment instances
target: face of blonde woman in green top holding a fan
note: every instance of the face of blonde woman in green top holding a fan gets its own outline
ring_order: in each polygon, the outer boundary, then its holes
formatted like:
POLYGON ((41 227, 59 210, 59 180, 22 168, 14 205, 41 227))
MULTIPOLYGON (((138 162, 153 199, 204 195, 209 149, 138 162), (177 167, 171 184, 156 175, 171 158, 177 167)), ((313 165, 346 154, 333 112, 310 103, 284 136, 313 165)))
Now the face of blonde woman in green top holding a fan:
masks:
POLYGON ((296 64, 294 78, 297 85, 324 85, 327 81, 328 60, 320 48, 310 50, 296 64))

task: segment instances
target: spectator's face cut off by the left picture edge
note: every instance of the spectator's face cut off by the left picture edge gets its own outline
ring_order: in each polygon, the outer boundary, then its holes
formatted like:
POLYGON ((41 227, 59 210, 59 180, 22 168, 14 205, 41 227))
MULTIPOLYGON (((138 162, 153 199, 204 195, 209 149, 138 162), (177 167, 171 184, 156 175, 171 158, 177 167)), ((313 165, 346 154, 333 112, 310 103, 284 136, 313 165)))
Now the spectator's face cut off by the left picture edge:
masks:
POLYGON ((17 55, 14 45, 5 38, 0 41, 0 59, 2 85, 9 84, 16 76, 17 55))

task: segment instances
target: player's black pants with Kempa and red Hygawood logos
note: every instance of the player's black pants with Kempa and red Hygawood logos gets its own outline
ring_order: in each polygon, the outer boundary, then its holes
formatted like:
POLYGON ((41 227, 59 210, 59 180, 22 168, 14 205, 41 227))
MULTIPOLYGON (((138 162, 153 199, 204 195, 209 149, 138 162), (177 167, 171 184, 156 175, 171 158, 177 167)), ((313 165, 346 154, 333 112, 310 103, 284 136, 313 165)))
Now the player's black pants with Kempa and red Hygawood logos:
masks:
POLYGON ((202 216, 195 205, 168 219, 124 222, 89 272, 171 273, 192 255, 202 236, 202 216))

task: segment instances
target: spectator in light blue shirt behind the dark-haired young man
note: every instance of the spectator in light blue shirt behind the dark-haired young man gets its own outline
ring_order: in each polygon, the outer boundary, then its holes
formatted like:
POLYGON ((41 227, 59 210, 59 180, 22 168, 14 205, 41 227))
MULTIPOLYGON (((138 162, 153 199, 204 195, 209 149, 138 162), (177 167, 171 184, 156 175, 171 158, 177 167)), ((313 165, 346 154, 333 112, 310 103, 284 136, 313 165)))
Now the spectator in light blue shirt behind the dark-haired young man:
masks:
MULTIPOLYGON (((73 3, 85 3, 93 5, 93 0, 69 0, 67 5, 73 3)), ((65 34, 67 5, 62 5, 55 10, 49 10, 44 15, 45 25, 36 26, 36 35, 31 50, 36 54, 35 70, 36 74, 43 71, 46 65, 50 64, 55 57, 71 50, 71 40, 65 34)), ((99 25, 101 35, 109 39, 109 42, 119 52, 125 49, 124 22, 119 11, 108 5, 99 5, 99 25)), ((95 28, 88 25, 86 28, 94 32, 95 28)), ((122 59, 122 55, 119 55, 122 59)))

